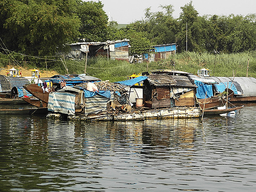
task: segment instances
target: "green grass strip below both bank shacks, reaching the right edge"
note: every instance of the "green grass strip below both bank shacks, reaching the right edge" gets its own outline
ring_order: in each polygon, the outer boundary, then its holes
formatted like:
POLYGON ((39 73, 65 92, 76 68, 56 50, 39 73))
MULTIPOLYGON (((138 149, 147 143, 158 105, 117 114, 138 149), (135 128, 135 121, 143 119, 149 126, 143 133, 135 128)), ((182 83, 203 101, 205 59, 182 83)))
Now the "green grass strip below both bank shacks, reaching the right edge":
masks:
MULTIPOLYGON (((88 61, 87 74, 98 77, 101 80, 111 82, 126 80, 128 75, 133 73, 151 72, 156 69, 174 69, 172 63, 175 62, 175 69, 197 74, 197 70, 208 68, 212 76, 246 76, 247 63, 249 59, 248 76, 256 77, 256 52, 234 53, 234 54, 209 54, 187 52, 173 55, 169 59, 158 62, 129 63, 126 61, 106 60, 97 58, 88 61), (147 68, 148 66, 148 68, 147 68)), ((70 73, 84 73, 85 62, 66 62, 70 73)), ((61 67, 62 73, 65 68, 61 67)))

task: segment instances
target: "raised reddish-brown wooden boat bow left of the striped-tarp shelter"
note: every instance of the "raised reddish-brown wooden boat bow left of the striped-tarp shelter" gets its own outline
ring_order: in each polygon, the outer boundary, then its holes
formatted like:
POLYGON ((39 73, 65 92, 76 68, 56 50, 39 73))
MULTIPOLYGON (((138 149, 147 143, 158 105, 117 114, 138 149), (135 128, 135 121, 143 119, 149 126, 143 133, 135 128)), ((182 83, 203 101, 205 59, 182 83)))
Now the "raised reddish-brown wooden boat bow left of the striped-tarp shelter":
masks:
POLYGON ((49 93, 46 91, 44 92, 41 87, 37 86, 37 84, 25 84, 23 87, 39 100, 48 103, 49 93))

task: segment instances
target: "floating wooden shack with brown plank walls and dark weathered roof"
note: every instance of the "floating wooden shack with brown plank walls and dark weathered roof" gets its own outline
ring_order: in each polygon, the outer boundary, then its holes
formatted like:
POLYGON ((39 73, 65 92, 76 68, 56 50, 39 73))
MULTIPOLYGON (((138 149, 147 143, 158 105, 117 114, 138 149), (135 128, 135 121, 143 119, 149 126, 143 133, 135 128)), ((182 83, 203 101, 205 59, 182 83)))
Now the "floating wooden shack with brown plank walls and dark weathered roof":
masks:
POLYGON ((144 81, 143 93, 147 108, 195 106, 196 85, 186 76, 152 74, 144 81))

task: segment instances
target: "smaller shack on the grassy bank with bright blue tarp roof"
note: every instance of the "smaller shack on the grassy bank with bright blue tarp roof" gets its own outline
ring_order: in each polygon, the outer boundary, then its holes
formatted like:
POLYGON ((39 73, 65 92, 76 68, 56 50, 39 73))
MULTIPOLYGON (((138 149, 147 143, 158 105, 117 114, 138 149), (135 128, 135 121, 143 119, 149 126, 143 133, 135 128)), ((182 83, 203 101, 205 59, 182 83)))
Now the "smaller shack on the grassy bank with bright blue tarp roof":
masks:
POLYGON ((170 55, 176 54, 177 44, 156 45, 154 48, 154 60, 168 59, 170 55))

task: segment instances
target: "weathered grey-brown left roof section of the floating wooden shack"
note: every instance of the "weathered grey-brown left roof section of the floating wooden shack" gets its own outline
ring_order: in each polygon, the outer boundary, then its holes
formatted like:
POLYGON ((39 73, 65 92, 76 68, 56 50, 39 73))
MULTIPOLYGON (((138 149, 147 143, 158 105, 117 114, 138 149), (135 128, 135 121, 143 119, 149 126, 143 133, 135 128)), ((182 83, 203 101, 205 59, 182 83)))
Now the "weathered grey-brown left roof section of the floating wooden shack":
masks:
POLYGON ((147 80, 156 87, 175 86, 176 80, 168 74, 152 74, 147 77, 147 80))

